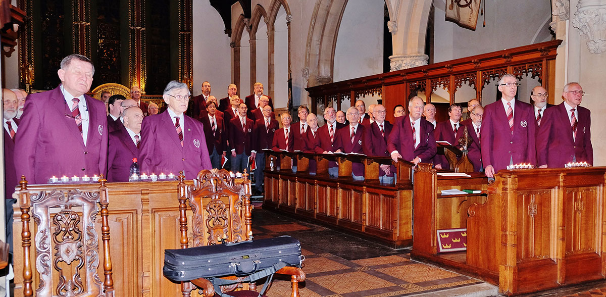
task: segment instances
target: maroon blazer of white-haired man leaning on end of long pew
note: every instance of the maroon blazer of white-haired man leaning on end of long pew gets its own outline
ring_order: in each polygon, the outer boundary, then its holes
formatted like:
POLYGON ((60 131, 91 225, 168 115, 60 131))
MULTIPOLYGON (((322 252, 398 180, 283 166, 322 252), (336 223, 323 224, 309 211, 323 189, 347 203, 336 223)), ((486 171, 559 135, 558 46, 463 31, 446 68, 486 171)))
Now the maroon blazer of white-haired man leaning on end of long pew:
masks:
POLYGON ((433 137, 433 124, 424 118, 419 118, 419 145, 413 143, 413 130, 410 127, 410 116, 400 116, 393 124, 393 129, 387 139, 387 152, 395 150, 402 155, 402 159, 413 161, 416 157, 422 162, 431 162, 436 155, 436 139, 433 137))

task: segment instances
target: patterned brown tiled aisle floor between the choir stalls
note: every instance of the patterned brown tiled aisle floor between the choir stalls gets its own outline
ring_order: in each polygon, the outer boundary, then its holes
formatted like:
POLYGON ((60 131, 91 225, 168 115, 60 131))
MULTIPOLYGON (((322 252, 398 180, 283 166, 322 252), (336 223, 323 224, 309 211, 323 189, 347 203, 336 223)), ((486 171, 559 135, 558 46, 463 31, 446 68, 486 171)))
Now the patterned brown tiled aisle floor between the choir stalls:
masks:
MULTIPOLYGON (((405 296, 481 284, 481 281, 411 261, 408 250, 394 250, 261 209, 253 210, 256 239, 290 235, 301 241, 307 296, 405 296)), ((290 296, 290 281, 276 279, 268 296, 290 296)))

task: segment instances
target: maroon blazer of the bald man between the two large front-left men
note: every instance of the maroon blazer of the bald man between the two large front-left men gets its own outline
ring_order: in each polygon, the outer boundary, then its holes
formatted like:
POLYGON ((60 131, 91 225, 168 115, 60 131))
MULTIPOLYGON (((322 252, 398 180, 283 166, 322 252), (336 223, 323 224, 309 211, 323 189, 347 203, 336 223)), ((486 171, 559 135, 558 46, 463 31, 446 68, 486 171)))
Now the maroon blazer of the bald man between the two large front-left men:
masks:
MULTIPOLYGON (((108 141, 107 181, 128 182, 130 165, 133 164, 133 158, 139 159, 139 149, 126 128, 111 132, 108 141)), ((141 163, 138 162, 140 166, 141 163)))

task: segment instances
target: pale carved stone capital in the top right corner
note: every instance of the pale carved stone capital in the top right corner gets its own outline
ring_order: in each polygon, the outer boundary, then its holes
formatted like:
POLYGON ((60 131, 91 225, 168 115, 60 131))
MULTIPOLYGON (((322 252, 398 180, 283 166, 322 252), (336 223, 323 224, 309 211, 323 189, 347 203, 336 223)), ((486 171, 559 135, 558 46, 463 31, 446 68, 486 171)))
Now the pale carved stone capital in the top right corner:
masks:
POLYGON ((585 36, 590 53, 606 51, 606 4, 599 0, 581 0, 577 4, 572 25, 585 36))

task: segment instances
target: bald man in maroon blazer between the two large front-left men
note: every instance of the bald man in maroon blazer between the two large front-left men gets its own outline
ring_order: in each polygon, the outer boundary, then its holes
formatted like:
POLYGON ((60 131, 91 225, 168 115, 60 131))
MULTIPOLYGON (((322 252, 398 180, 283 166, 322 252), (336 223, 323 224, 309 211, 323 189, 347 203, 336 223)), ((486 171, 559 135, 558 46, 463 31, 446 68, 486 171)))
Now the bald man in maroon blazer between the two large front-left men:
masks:
POLYGON ((110 133, 107 149, 107 181, 128 182, 133 158, 139 159, 143 112, 137 106, 122 113, 124 128, 110 133))

